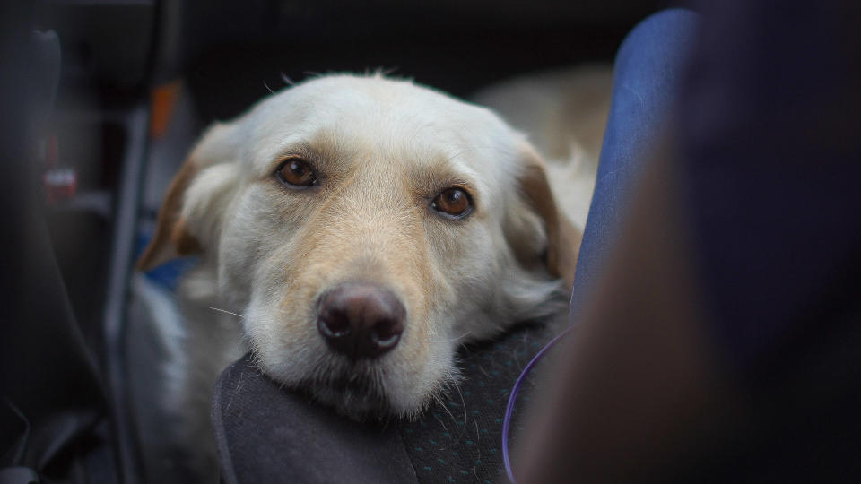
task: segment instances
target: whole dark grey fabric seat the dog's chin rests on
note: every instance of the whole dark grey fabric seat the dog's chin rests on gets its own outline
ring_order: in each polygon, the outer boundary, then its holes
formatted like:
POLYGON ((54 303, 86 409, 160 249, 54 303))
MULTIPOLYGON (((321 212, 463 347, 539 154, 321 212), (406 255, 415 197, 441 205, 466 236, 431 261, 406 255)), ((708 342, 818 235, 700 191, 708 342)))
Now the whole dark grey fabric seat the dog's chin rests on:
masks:
MULTIPOLYGON (((499 481, 511 387, 561 327, 523 325, 498 341, 464 348, 457 355, 462 385, 413 421, 346 419, 281 388, 246 356, 222 373, 214 391, 222 482, 499 481)), ((530 401, 540 378, 535 373, 521 388, 520 407, 530 401)), ((513 440, 523 414, 515 412, 513 440)))

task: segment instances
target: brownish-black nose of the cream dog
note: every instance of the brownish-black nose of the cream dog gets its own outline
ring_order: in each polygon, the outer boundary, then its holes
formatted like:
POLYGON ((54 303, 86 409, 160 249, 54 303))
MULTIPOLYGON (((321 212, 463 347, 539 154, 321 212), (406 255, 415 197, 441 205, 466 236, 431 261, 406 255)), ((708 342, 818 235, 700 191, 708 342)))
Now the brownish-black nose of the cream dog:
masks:
POLYGON ((351 359, 377 358, 404 333, 404 305, 370 282, 341 284, 323 294, 318 307, 317 330, 329 348, 351 359))

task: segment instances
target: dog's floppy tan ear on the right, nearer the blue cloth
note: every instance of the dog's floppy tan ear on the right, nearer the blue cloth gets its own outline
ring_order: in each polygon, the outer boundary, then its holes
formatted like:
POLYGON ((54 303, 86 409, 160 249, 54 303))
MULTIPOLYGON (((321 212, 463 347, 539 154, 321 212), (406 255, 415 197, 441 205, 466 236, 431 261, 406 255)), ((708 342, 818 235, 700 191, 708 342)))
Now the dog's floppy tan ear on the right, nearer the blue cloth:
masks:
POLYGON ((547 272, 559 277, 570 289, 577 269, 580 239, 583 234, 574 227, 560 210, 547 181, 544 160, 529 143, 522 143, 520 158, 522 170, 517 177, 517 188, 526 204, 538 215, 544 225, 546 248, 544 264, 547 272))

